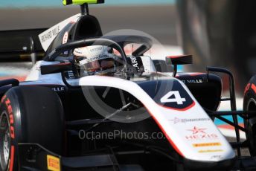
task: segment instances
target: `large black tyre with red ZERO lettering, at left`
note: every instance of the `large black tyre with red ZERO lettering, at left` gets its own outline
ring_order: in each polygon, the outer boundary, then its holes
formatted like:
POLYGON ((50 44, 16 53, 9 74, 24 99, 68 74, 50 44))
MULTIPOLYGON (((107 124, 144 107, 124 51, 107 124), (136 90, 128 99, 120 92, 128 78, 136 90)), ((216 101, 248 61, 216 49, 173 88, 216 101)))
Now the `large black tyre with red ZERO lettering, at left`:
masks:
POLYGON ((39 143, 62 155, 63 116, 60 97, 50 88, 7 91, 0 104, 0 170, 19 170, 18 143, 39 143))

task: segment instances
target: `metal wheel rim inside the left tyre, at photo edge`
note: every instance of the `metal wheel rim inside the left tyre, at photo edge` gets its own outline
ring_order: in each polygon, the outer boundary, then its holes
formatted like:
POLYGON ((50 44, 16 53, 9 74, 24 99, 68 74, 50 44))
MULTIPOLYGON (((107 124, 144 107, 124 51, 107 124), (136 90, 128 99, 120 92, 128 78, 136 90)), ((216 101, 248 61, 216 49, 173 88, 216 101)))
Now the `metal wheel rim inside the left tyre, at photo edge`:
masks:
POLYGON ((1 113, 0 117, 0 164, 2 170, 7 170, 10 157, 10 123, 8 114, 1 113))

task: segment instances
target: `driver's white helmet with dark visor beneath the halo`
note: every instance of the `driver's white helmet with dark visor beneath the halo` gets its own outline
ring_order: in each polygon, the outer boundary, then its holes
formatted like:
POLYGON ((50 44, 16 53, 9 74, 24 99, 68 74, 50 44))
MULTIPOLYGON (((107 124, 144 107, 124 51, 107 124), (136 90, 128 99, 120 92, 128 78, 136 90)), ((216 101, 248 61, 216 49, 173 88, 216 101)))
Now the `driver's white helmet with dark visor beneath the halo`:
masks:
POLYGON ((74 49, 74 59, 80 68, 89 75, 113 74, 115 72, 115 55, 109 54, 111 48, 93 45, 74 49))

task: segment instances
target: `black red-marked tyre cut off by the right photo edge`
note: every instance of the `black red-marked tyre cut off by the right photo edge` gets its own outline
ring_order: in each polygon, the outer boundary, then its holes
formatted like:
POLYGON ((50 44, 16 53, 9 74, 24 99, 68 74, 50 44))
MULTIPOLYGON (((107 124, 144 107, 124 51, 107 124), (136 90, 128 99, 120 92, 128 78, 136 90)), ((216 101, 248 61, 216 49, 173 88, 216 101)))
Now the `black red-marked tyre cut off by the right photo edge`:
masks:
MULTIPOLYGON (((256 112, 256 76, 252 77, 246 86, 243 97, 243 111, 256 112)), ((246 117, 248 114, 246 114, 246 117)), ((256 113, 255 117, 244 119, 244 126, 248 129, 246 139, 249 141, 249 151, 252 156, 256 156, 256 113)))

